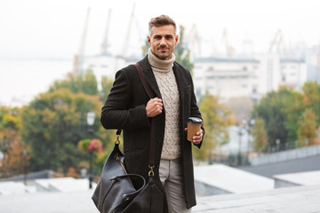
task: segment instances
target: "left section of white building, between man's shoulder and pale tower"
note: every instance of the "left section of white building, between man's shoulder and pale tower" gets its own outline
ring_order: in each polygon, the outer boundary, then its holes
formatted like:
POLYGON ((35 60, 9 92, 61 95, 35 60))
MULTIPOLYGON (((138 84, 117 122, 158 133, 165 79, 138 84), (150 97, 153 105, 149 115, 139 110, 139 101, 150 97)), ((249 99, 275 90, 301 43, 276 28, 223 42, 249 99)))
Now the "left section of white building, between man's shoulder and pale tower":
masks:
POLYGON ((206 92, 226 100, 250 96, 257 92, 260 62, 255 59, 195 59, 194 83, 196 97, 206 92))

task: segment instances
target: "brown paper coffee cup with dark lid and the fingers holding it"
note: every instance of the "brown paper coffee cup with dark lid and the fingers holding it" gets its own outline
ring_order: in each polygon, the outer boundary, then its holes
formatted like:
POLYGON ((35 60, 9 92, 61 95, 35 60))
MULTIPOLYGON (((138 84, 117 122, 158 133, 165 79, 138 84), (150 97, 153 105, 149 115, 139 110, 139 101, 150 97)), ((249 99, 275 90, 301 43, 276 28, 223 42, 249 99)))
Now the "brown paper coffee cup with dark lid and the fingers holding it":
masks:
POLYGON ((203 121, 197 117, 188 118, 188 141, 199 144, 202 141, 203 130, 201 125, 203 121))

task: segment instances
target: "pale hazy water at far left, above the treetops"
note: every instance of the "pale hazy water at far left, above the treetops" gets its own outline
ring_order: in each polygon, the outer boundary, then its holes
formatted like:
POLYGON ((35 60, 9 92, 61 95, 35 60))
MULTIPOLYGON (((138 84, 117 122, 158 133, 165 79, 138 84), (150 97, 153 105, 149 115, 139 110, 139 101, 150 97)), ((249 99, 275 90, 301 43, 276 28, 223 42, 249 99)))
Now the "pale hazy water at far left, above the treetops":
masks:
POLYGON ((0 106, 22 106, 72 71, 72 60, 0 60, 0 106))

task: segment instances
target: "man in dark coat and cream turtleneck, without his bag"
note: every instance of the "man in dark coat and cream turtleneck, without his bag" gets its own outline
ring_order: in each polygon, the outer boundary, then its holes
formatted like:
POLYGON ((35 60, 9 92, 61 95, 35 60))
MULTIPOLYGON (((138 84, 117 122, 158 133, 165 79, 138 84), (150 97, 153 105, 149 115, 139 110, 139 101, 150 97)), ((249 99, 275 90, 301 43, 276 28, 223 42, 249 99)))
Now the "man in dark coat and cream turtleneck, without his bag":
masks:
MULTIPOLYGON (((191 212, 196 205, 191 143, 187 140, 188 117, 199 117, 189 71, 175 62, 178 43, 175 22, 166 15, 149 22, 148 56, 139 61, 156 98, 148 99, 136 68, 116 73, 101 123, 106 129, 124 130, 124 163, 129 173, 148 179, 150 118, 156 126, 158 185, 164 186, 170 212, 191 212)), ((193 137, 200 148, 204 129, 193 137)))

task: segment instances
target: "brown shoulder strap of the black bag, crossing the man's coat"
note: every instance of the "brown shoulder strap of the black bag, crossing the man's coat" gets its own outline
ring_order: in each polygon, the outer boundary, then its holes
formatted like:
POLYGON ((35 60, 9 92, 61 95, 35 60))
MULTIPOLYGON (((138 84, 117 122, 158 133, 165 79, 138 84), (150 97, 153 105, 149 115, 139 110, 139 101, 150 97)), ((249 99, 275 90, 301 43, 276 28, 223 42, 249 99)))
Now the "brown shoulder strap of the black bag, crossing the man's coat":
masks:
MULTIPOLYGON (((148 94, 148 98, 149 99, 154 98, 154 93, 151 91, 151 89, 150 89, 150 87, 149 87, 149 85, 147 83, 146 76, 143 73, 142 67, 140 66, 139 63, 136 63, 134 66, 138 70, 138 74, 140 76, 141 83, 142 83, 145 91, 148 94)), ((155 167, 155 145, 156 145, 156 141, 155 141, 155 119, 151 118, 149 165, 148 165, 150 171, 148 172, 148 176, 150 176, 150 175, 153 176, 154 175, 153 169, 155 167)))

